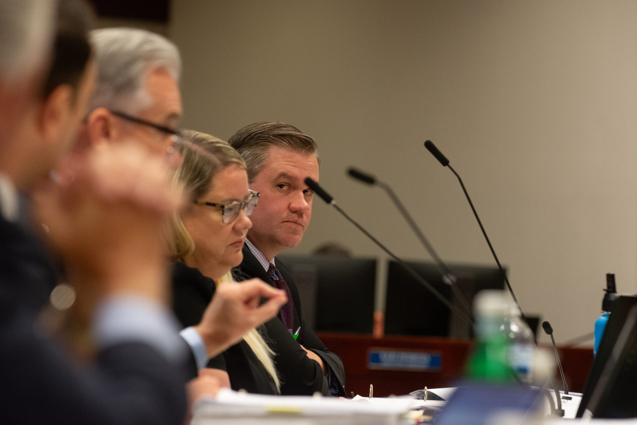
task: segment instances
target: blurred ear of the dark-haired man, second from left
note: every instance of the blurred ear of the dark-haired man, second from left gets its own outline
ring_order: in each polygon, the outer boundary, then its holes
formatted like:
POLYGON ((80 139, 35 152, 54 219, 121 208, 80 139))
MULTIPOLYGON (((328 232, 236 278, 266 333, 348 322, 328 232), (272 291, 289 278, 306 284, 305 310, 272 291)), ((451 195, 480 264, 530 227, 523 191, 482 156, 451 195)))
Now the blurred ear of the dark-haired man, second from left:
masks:
POLYGON ((41 103, 38 129, 47 144, 59 143, 66 122, 72 112, 73 88, 68 84, 57 87, 41 103))

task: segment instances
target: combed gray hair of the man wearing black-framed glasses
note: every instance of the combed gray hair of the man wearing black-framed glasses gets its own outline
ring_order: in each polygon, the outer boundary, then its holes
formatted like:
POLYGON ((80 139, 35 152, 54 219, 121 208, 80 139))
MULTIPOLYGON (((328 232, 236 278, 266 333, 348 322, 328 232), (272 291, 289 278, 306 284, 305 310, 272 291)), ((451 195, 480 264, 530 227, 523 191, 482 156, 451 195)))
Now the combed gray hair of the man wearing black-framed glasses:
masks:
POLYGON ((137 113, 150 106, 146 76, 166 68, 178 82, 182 59, 177 47, 154 32, 134 28, 105 28, 90 32, 97 59, 97 87, 89 110, 113 108, 137 113))

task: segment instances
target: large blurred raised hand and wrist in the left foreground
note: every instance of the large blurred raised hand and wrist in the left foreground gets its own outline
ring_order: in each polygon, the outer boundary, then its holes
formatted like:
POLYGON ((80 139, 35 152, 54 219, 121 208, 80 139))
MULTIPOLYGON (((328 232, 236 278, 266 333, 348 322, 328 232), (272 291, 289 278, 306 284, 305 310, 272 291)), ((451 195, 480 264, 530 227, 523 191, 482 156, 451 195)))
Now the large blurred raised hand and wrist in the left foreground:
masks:
POLYGON ((166 301, 164 225, 181 199, 168 176, 166 161, 136 143, 101 144, 68 157, 34 191, 36 221, 86 314, 113 294, 166 301))

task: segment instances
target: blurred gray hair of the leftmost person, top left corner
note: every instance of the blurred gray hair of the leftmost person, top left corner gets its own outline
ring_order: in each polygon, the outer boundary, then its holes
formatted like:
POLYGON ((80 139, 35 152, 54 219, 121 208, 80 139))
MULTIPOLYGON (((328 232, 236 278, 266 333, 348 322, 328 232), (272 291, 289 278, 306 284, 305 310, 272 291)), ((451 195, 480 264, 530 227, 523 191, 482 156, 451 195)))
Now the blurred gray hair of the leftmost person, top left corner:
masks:
POLYGON ((50 59, 54 0, 0 0, 0 75, 25 76, 50 59))

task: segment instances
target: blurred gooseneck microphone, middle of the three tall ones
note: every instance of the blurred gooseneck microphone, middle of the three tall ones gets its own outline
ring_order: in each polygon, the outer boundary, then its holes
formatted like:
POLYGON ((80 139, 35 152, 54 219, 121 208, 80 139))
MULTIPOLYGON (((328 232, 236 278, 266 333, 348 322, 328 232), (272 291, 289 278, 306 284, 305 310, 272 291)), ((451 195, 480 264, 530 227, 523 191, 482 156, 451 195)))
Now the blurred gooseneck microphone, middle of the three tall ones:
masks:
POLYGON ((420 230, 420 227, 418 227, 410 213, 404 207, 403 203, 400 201, 400 199, 398 199, 398 196, 396 196, 396 193, 393 191, 393 189, 385 182, 382 182, 374 176, 369 175, 368 173, 364 173, 363 171, 360 171, 358 169, 350 168, 347 170, 347 173, 363 183, 380 186, 385 192, 387 192, 387 195, 389 195, 389 198, 392 200, 394 205, 396 205, 396 208, 398 208, 399 212, 403 215, 403 218, 405 219, 407 224, 409 224, 409 226, 412 228, 413 233, 415 233, 416 236, 419 238, 420 243, 424 245, 427 252, 429 252, 429 255, 434 259, 436 264, 438 264, 438 270, 440 270, 440 273, 442 274, 443 281, 446 284, 451 285, 453 291, 455 292, 455 296, 462 303, 462 306, 466 309, 467 312, 471 312, 469 301, 455 284, 456 278, 454 273, 452 273, 452 271, 449 270, 449 268, 447 267, 447 264, 445 264, 440 259, 438 253, 436 253, 436 250, 434 250, 434 247, 431 245, 431 243, 429 243, 425 235, 420 230))

